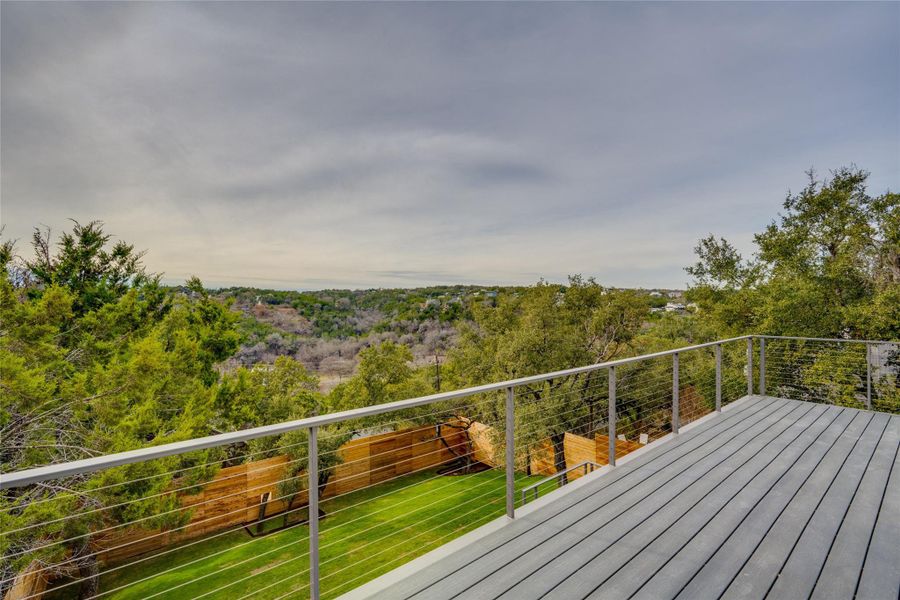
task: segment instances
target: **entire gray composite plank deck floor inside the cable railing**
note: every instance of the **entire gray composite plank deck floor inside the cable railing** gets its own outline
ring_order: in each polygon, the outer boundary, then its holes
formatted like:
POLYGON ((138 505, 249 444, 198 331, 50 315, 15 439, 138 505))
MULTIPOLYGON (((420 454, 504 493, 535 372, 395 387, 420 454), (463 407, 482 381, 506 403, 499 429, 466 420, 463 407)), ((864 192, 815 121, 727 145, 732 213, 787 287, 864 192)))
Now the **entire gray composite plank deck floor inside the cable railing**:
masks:
POLYGON ((377 598, 900 597, 900 416, 753 396, 377 598))

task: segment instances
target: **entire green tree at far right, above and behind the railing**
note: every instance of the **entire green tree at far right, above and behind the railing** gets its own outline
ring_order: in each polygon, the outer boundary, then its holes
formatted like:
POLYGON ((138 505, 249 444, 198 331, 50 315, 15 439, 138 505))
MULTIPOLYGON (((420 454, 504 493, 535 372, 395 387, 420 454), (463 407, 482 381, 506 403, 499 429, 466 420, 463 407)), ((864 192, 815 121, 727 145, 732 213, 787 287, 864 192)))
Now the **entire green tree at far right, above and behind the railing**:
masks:
MULTIPOLYGON (((868 173, 842 168, 825 180, 809 173, 784 212, 758 233, 743 259, 725 240, 697 247, 689 296, 710 338, 762 333, 824 338, 900 339, 900 195, 867 193, 868 173)), ((867 358, 861 345, 770 341, 778 358, 767 373, 777 395, 863 407, 866 371, 873 402, 900 403, 890 356, 867 358)))

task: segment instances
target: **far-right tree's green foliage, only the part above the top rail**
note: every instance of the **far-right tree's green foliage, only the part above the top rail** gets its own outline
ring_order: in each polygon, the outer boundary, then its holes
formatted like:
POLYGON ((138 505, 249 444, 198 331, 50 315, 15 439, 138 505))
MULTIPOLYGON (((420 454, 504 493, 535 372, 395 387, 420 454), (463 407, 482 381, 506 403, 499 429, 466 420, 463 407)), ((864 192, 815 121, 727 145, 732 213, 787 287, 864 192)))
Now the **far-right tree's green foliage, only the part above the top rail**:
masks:
POLYGON ((856 168, 824 181, 810 172, 755 236, 753 259, 701 240, 689 296, 719 334, 900 337, 900 196, 870 196, 867 178, 856 168))

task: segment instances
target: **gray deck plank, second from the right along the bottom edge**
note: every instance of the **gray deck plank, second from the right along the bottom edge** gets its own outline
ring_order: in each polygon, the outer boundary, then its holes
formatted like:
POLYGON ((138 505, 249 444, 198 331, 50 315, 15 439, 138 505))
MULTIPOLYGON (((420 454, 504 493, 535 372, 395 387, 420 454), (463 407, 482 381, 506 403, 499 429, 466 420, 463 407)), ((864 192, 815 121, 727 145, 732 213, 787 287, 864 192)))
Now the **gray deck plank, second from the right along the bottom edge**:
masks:
MULTIPOLYGON (((852 598, 856 592, 866 549, 872 539, 898 448, 900 417, 892 417, 828 553, 828 559, 813 590, 813 599, 852 598)), ((896 540, 900 544, 900 533, 896 540)), ((897 544, 894 545, 895 548, 897 544)), ((897 567, 900 569, 900 557, 897 567)))

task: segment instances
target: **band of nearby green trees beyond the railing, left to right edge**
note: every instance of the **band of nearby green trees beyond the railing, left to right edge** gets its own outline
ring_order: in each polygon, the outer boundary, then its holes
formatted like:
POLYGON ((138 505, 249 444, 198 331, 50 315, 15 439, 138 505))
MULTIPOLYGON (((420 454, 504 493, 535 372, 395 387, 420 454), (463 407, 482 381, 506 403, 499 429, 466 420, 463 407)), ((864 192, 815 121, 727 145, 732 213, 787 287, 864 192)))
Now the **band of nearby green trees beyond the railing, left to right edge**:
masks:
MULTIPOLYGON (((591 278, 538 282, 503 291, 489 303, 469 302, 454 317, 456 343, 440 376, 413 364, 410 348, 385 341, 363 349, 354 374, 325 394, 315 374, 282 356, 264 368, 222 370, 248 332, 232 298, 210 294, 192 278, 166 288, 148 273, 143 254, 111 243, 101 222, 74 223, 54 241, 36 230, 32 257, 11 241, 0 246, 0 461, 2 471, 120 452, 214 433, 370 406, 711 341, 745 333, 900 339, 900 216, 897 194, 870 196, 855 168, 829 178, 810 174, 784 212, 741 256, 728 241, 700 241, 688 298, 695 314, 650 317, 651 299, 591 278)), ((312 296, 291 297, 310 315, 328 311, 312 296)), ((416 300, 418 302, 418 300, 416 300)), ((454 309, 457 310, 457 309, 454 309)), ((691 365, 687 369, 708 366, 691 365)), ((894 356, 890 360, 896 361, 894 356)), ((636 366, 634 381, 664 377, 664 365, 636 366)), ((566 432, 591 434, 604 424, 605 372, 521 390, 523 435, 550 440, 565 466, 566 432)), ((707 378, 708 379, 708 378, 707 378)), ((896 386, 896 383, 893 383, 896 386)), ((709 395, 706 395, 707 401, 709 395)), ((453 414, 453 406, 447 407, 453 414)), ((499 423, 502 398, 458 409, 471 421, 499 423), (464 412, 463 412, 464 411, 464 412)), ((427 411, 393 415, 421 424, 427 411)), ((639 402, 622 406, 629 423, 653 423, 639 402)), ((440 425, 440 422, 437 423, 440 425)), ((378 421, 323 428, 320 486, 339 458, 335 450, 378 421), (324 458, 328 457, 328 458, 324 458)), ((398 427, 400 425, 397 425, 398 427)), ((457 424, 458 426, 458 424, 457 424)), ((664 431, 662 421, 656 425, 664 431)), ((289 503, 304 490, 304 431, 149 463, 48 482, 0 496, 3 555, 9 580, 34 561, 53 576, 84 578, 80 595, 97 593, 99 565, 91 532, 140 519, 171 528, 189 518, 166 494, 173 481, 199 485, 218 468, 287 453, 279 494, 289 503), (75 516, 83 515, 83 516, 75 516), (162 516, 160 516, 162 515, 162 516), (48 540, 68 540, 50 544, 48 540)), ((527 440, 526 440, 527 441, 527 440)))

